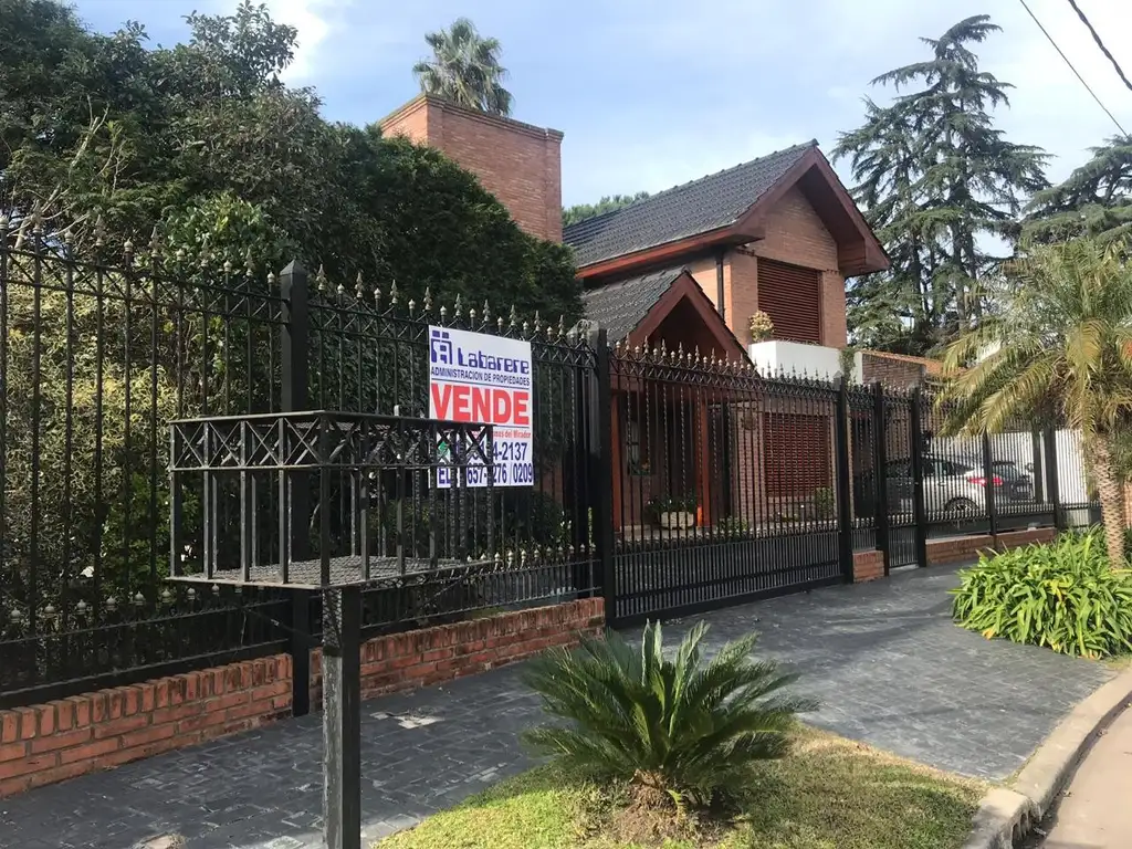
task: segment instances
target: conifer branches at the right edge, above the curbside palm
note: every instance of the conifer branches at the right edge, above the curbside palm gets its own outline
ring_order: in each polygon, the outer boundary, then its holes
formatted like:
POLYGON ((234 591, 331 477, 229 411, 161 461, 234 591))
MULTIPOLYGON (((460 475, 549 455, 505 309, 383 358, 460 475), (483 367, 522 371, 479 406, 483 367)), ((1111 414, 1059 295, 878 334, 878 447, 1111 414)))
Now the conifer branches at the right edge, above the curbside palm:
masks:
POLYGON ((1132 136, 1113 136, 1089 152, 1092 158, 1064 182, 1034 196, 1026 237, 1036 241, 1132 237, 1132 136))

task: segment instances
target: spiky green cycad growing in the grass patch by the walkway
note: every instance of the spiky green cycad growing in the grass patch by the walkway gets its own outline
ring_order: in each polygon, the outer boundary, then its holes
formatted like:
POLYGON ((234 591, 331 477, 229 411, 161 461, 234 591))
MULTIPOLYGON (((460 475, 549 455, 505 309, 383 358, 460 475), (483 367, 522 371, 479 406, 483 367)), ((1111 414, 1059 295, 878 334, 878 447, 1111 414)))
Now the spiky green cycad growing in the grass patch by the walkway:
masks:
POLYGON ((526 680, 558 721, 524 739, 539 754, 631 782, 644 803, 706 805, 741 787, 754 762, 787 753, 795 714, 814 705, 781 692, 795 676, 751 657, 754 634, 705 660, 706 632, 697 624, 672 658, 655 623, 640 649, 611 632, 535 659, 526 680))

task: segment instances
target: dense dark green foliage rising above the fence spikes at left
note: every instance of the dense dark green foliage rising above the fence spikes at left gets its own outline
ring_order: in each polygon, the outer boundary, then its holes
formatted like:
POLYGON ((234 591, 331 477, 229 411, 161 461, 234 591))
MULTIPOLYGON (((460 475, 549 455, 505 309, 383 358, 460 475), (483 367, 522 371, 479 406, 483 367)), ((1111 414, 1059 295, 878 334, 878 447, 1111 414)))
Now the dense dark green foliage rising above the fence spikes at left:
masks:
POLYGON ((418 303, 431 288, 449 309, 490 294, 497 311, 581 317, 569 251, 520 230, 471 173, 329 123, 314 91, 282 84, 298 36, 265 7, 187 23, 187 43, 148 50, 140 25, 103 36, 57 3, 0 0, 0 211, 40 207, 80 257, 101 217, 108 250, 156 225, 171 252, 250 256, 260 278, 294 258, 335 289, 360 276, 418 303))

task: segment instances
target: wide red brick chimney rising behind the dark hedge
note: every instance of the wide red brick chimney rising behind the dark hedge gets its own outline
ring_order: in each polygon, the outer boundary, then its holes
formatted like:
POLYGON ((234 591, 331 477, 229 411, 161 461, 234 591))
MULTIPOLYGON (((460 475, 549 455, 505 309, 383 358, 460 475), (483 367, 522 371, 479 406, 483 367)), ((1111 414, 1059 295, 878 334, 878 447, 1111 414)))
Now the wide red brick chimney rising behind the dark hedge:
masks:
POLYGON ((379 122, 386 136, 429 145, 471 171, 531 235, 563 240, 558 130, 490 115, 428 94, 379 122))

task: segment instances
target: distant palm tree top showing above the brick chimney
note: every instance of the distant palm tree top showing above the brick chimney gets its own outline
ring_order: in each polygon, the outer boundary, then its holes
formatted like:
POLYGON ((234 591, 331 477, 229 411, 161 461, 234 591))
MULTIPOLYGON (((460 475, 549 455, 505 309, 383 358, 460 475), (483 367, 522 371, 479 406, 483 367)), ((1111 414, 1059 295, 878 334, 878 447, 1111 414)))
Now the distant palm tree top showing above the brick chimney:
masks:
POLYGON ((499 65, 498 38, 483 38, 468 18, 456 18, 447 29, 428 33, 432 59, 413 66, 426 94, 497 115, 511 114, 511 92, 503 87, 507 69, 499 65))

